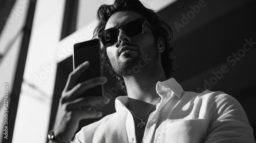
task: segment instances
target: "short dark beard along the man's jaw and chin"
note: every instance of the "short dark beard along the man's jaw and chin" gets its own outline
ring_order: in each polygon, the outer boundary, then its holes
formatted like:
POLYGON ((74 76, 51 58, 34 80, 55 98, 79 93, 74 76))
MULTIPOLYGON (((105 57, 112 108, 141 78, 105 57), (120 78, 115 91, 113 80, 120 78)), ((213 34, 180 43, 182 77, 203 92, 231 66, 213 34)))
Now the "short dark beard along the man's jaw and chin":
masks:
POLYGON ((125 76, 152 76, 158 71, 158 51, 157 44, 152 44, 143 48, 139 56, 126 59, 125 62, 111 62, 115 73, 121 77, 125 76))

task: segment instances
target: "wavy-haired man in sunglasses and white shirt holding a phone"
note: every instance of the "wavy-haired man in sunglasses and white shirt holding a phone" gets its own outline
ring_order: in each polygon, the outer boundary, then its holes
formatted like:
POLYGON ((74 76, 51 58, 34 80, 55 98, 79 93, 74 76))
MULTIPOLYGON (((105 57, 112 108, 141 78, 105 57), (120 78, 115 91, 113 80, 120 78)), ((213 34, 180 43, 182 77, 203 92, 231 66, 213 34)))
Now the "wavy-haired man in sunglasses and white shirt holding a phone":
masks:
MULTIPOLYGON (((236 99, 209 90, 186 92, 170 78, 172 31, 154 11, 139 1, 115 1, 99 8, 98 19, 94 36, 101 40, 103 63, 127 96, 116 99, 115 113, 83 127, 73 142, 255 142, 236 99)), ((98 98, 76 99, 106 81, 96 78, 76 85, 88 66, 84 62, 69 76, 52 140, 71 140, 81 119, 101 116, 90 108, 98 98)))

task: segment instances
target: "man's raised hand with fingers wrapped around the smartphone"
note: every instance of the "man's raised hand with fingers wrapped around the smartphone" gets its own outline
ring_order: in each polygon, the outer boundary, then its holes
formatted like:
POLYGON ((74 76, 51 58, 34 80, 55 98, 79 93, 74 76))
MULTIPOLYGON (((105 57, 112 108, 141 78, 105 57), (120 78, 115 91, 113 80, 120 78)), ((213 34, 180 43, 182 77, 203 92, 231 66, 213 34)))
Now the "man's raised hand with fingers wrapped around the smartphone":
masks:
MULTIPOLYGON (((106 82, 105 77, 99 77, 76 84, 79 76, 88 67, 89 62, 86 61, 72 71, 62 92, 54 124, 54 134, 59 142, 67 142, 72 139, 80 120, 98 118, 102 115, 102 112, 95 112, 90 107, 92 104, 99 103, 100 98, 90 97, 90 95, 78 98, 83 91, 106 82)), ((104 104, 109 103, 109 101, 104 102, 104 104)))

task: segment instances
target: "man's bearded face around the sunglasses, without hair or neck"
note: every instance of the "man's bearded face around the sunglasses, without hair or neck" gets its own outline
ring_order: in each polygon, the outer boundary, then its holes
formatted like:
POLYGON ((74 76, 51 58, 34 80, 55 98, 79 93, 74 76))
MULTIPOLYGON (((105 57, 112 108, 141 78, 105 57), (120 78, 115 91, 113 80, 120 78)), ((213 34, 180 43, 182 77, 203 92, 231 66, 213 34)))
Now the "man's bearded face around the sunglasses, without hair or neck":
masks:
MULTIPOLYGON (((109 18, 105 29, 124 25, 125 22, 139 17, 143 16, 134 11, 116 12, 109 18)), ((131 71, 135 66, 138 66, 138 64, 143 65, 144 63, 144 66, 139 67, 141 70, 146 69, 144 68, 145 63, 147 63, 146 66, 148 67, 148 65, 158 61, 156 41, 151 28, 146 23, 144 33, 138 37, 129 37, 123 29, 120 29, 118 42, 112 46, 106 47, 106 53, 108 54, 116 74, 120 76, 131 75, 131 72, 129 74, 127 71, 131 71)), ((136 72, 132 73, 134 74, 136 72)))

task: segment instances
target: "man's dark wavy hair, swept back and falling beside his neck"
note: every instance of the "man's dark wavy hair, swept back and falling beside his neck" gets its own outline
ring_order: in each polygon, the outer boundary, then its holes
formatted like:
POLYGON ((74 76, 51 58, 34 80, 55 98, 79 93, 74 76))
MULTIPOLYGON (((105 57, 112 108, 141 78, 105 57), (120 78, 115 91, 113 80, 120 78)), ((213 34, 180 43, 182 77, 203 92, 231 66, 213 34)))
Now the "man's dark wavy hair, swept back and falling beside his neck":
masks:
MULTIPOLYGON (((97 11, 98 24, 94 30, 93 36, 97 38, 97 35, 104 31, 106 22, 109 20, 110 16, 118 11, 132 10, 147 19, 147 21, 152 25, 154 29, 154 37, 162 37, 165 42, 165 50, 161 54, 161 62, 164 69, 164 74, 167 79, 171 78, 175 73, 173 70, 174 59, 171 55, 173 51, 173 46, 170 45, 168 41, 172 39, 172 29, 167 25, 167 23, 159 16, 156 12, 143 6, 139 0, 116 0, 113 5, 102 5, 97 11)), ((114 75, 122 89, 126 92, 126 86, 124 80, 121 76, 117 75, 110 63, 109 57, 106 54, 106 47, 101 49, 102 64, 108 67, 110 73, 114 75)))

